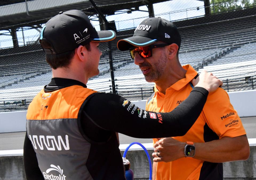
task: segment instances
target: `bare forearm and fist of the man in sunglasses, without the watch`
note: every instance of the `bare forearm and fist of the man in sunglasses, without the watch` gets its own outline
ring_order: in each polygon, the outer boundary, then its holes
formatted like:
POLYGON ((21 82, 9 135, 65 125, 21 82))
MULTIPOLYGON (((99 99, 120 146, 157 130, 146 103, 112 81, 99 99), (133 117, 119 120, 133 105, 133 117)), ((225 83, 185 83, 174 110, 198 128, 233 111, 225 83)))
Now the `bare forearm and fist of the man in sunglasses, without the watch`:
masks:
MULTIPOLYGON (((170 162, 185 157, 186 143, 171 137, 163 138, 154 144, 154 162, 170 162), (158 153, 158 156, 156 153, 158 153)), ((250 155, 250 146, 246 135, 237 137, 223 137, 206 143, 194 143, 195 156, 193 158, 208 162, 227 162, 246 160, 250 155)))

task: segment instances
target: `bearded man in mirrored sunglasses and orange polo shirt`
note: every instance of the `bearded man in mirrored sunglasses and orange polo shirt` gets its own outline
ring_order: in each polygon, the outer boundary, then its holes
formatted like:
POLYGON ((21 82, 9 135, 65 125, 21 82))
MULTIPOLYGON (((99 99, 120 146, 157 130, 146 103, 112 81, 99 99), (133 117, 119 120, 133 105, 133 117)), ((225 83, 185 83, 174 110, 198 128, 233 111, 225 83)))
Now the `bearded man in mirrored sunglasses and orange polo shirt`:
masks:
MULTIPOLYGON (((193 89, 190 82, 197 72, 190 65, 181 66, 180 46, 177 27, 162 18, 143 20, 133 37, 118 41, 119 50, 130 50, 146 81, 155 82, 147 111, 169 112, 193 89)), ((221 88, 208 96, 185 135, 153 140, 153 179, 157 180, 223 179, 222 162, 246 160, 250 154, 242 122, 221 88)))

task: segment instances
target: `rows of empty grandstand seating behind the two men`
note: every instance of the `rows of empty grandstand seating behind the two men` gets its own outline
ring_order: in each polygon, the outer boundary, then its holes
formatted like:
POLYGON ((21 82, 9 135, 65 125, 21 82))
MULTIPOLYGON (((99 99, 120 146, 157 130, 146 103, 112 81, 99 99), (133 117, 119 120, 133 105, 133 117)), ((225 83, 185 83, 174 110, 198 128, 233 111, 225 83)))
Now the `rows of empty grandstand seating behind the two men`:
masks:
MULTIPOLYGON (((150 96, 153 92, 153 84, 145 81, 141 70, 133 63, 128 51, 121 52, 116 48, 117 41, 131 36, 131 32, 133 30, 123 31, 122 34, 127 36, 118 36, 110 44, 117 92, 131 100, 136 100, 150 96), (129 91, 137 95, 131 95, 129 91)), ((223 88, 227 91, 254 88, 255 16, 181 27, 179 32, 182 37, 179 61, 182 65, 191 64, 195 69, 199 69, 199 72, 202 69, 213 72, 224 81, 223 88)), ((117 35, 120 33, 117 32, 117 35)), ((101 92, 111 92, 107 43, 101 43, 100 49, 103 53, 98 68, 100 73, 91 78, 87 86, 101 92)), ((45 62, 45 54, 39 44, 0 49, 0 106, 2 104, 5 109, 11 109, 7 108, 7 105, 18 107, 21 104, 26 108, 26 104, 29 104, 35 92, 42 89, 50 79, 51 68, 45 62), (27 95, 24 87, 35 88, 31 88, 33 92, 27 95)))

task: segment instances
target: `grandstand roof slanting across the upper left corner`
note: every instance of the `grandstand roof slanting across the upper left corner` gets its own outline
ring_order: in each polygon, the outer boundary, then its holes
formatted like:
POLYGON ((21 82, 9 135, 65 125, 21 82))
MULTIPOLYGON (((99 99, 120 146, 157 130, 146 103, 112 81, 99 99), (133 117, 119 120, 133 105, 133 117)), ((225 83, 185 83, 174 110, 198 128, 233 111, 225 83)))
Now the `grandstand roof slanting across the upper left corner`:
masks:
MULTIPOLYGON (((116 11, 127 10, 130 8, 145 6, 150 3, 165 2, 168 0, 94 0, 98 5, 99 10, 104 15, 114 15, 116 11)), ((69 0, 69 1, 52 1, 52 0, 33 0, 27 1, 28 7, 33 6, 34 9, 29 9, 29 16, 27 15, 25 0, 12 0, 8 2, 1 2, 0 13, 0 30, 8 30, 10 28, 21 28, 33 26, 35 24, 46 23, 51 17, 55 16, 60 11, 67 11, 72 9, 82 10, 86 15, 97 14, 95 9, 91 6, 90 1, 84 0, 69 0), (45 3, 35 3, 42 1, 45 3), (49 2, 49 3, 47 3, 49 2), (9 10, 8 4, 13 4, 12 10, 9 10), (43 6, 42 6, 43 4, 43 6)), ((138 8, 137 8, 138 9, 138 8)))

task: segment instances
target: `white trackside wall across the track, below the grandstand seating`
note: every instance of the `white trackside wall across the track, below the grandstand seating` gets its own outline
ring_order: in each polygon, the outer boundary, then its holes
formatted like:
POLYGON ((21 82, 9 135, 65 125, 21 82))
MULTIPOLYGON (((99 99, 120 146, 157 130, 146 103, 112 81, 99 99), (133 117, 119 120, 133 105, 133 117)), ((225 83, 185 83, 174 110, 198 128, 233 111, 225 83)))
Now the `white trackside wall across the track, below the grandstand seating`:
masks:
MULTIPOLYGON (((256 116, 256 90, 228 93, 230 102, 240 117, 256 116)), ((139 108, 145 109, 146 100, 134 101, 139 108)), ((0 133, 26 131, 27 111, 0 113, 0 133)))

